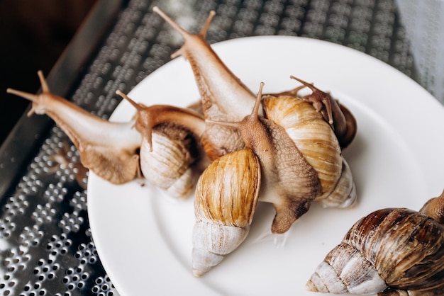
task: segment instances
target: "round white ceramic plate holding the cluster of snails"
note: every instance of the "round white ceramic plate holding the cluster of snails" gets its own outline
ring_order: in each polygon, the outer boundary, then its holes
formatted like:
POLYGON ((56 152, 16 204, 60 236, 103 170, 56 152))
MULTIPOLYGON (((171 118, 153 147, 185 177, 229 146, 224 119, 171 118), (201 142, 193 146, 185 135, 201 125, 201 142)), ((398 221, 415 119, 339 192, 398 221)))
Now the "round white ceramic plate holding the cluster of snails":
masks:
MULTIPOLYGON (((213 45, 257 91, 297 86, 290 75, 331 91, 355 114, 357 137, 344 155, 359 204, 313 205, 286 234, 272 237, 274 210, 260 204, 250 235, 201 278, 191 272, 192 198, 172 200, 150 186, 113 186, 89 175, 88 212, 101 262, 121 295, 314 295, 305 283, 360 217, 384 207, 418 210, 444 188, 444 108, 413 80, 348 47, 296 37, 255 37, 213 45), (281 244, 277 244, 280 241, 281 244)), ((187 106, 199 98, 189 64, 178 58, 150 74, 130 96, 147 105, 187 106)), ((134 110, 123 102, 111 120, 134 110)))

